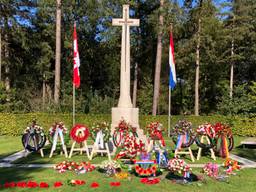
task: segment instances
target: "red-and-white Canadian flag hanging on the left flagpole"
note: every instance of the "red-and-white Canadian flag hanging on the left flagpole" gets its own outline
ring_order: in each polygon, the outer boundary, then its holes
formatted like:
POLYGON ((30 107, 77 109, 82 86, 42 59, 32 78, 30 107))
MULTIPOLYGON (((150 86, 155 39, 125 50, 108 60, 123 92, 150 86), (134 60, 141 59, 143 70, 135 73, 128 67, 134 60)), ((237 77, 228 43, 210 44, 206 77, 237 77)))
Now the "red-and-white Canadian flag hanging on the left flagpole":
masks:
POLYGON ((73 38, 74 38, 73 84, 75 85, 76 88, 79 88, 80 87, 80 73, 79 73, 80 59, 79 59, 79 52, 78 52, 76 23, 74 24, 73 38))

